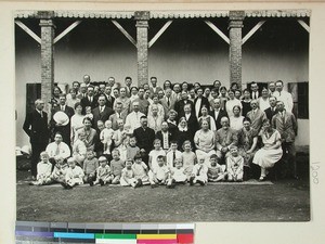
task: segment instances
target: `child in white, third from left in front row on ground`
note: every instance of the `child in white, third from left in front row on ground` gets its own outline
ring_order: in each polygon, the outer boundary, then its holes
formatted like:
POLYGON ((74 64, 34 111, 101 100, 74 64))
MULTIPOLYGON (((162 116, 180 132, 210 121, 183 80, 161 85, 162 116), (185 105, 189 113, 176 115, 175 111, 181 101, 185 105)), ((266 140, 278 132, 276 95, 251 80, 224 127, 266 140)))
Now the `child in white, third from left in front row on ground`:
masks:
POLYGON ((69 157, 67 159, 68 169, 66 170, 65 175, 65 182, 61 184, 65 189, 73 189, 76 185, 83 184, 83 170, 80 166, 77 166, 76 160, 74 157, 69 157))

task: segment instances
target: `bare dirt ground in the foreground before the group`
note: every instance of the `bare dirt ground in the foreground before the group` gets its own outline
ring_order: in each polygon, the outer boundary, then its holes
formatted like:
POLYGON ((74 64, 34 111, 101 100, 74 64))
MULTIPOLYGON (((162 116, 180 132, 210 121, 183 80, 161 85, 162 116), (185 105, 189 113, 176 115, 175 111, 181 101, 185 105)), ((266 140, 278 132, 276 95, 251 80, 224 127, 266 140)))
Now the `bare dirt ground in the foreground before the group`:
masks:
POLYGON ((17 170, 17 220, 76 222, 309 221, 308 156, 299 180, 139 189, 121 187, 30 187, 17 170))

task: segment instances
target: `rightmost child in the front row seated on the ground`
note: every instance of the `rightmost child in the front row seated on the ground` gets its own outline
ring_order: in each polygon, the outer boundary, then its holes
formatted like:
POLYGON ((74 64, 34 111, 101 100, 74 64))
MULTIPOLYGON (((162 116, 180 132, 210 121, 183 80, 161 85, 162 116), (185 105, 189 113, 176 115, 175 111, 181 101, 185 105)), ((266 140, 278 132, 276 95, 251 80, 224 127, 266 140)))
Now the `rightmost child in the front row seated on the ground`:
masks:
POLYGON ((226 158, 226 171, 229 181, 243 181, 244 158, 238 154, 238 147, 232 145, 226 158))

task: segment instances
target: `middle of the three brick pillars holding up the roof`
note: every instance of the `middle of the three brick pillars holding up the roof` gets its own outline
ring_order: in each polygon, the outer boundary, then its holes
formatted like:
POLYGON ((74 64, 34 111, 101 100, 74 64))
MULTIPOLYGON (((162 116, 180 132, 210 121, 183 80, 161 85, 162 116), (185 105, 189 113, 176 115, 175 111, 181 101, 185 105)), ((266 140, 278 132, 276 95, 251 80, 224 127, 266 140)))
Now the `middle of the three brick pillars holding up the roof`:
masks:
POLYGON ((148 11, 136 11, 134 13, 134 20, 136 21, 136 49, 138 49, 138 86, 148 82, 148 11))

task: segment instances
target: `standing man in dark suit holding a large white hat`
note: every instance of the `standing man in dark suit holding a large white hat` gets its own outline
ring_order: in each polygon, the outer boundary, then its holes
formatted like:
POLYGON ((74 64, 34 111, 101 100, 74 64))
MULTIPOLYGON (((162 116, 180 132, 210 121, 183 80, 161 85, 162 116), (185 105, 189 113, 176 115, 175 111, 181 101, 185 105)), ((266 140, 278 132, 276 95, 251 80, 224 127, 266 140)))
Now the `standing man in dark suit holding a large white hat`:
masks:
POLYGON ((61 132, 62 134, 62 138, 63 138, 63 142, 65 142, 67 145, 70 146, 70 118, 73 117, 73 115, 75 114, 75 110, 70 106, 67 106, 66 105, 66 97, 65 94, 61 94, 60 95, 60 104, 53 111, 53 115, 52 115, 52 119, 51 119, 51 128, 52 128, 52 137, 53 137, 53 140, 54 140, 54 134, 56 132, 61 132), (69 118, 69 121, 67 125, 58 125, 55 120, 54 120, 54 115, 56 112, 58 111, 62 111, 64 112, 68 118, 69 118))

